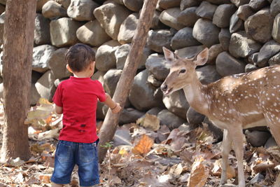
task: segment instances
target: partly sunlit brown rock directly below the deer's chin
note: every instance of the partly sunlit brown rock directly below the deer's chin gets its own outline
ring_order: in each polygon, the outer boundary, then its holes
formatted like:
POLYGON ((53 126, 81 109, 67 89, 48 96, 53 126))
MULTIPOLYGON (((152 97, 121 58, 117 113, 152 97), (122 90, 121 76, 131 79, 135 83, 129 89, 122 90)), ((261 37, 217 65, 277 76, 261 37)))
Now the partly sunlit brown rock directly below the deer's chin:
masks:
POLYGON ((164 95, 162 99, 165 107, 183 119, 187 119, 186 113, 190 105, 187 102, 185 93, 183 90, 173 92, 171 95, 164 95))

